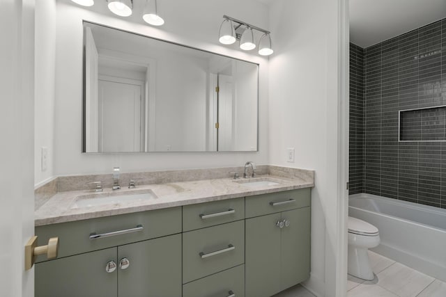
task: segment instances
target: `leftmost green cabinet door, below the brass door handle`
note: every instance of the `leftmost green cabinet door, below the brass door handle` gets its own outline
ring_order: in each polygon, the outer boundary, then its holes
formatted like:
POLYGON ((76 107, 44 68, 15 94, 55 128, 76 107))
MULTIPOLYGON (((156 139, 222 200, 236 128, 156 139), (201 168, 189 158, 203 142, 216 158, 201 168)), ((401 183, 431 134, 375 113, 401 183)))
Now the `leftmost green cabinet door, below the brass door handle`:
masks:
POLYGON ((107 262, 116 263, 116 248, 36 264, 36 297, 117 296, 118 270, 107 273, 107 262))

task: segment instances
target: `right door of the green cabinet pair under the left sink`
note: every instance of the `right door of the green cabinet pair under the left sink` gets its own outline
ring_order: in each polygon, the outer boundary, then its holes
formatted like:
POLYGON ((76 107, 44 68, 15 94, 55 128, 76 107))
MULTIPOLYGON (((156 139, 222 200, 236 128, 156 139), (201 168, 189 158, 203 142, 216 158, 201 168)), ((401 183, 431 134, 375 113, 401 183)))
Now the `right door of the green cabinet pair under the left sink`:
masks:
POLYGON ((119 246, 118 271, 119 297, 181 296, 181 234, 119 246))

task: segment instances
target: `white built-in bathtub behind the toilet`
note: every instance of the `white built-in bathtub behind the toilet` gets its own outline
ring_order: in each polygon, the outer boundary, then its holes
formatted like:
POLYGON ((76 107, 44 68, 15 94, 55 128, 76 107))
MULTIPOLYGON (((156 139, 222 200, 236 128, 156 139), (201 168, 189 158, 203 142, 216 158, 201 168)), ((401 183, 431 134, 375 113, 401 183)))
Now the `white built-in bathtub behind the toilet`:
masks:
POLYGON ((446 209, 360 193, 349 196, 348 215, 378 228, 371 250, 446 282, 446 209))

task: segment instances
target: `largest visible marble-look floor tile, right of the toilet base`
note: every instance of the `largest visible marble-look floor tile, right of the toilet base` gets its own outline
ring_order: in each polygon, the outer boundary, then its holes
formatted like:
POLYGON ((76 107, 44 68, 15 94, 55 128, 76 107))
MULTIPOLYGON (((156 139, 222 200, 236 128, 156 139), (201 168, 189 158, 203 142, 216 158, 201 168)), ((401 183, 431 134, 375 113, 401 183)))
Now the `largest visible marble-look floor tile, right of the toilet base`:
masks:
POLYGON ((378 273, 377 277, 378 286, 399 297, 415 297, 435 280, 399 263, 392 264, 378 273))

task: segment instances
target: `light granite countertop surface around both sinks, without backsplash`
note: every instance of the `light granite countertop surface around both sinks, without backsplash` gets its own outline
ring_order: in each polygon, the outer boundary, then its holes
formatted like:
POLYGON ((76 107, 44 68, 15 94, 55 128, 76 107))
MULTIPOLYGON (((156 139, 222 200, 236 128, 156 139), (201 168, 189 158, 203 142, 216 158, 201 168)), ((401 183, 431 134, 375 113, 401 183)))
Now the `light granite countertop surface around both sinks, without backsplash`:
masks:
POLYGON ((205 179, 189 182, 170 182, 165 184, 148 184, 128 189, 112 191, 104 188, 102 193, 125 194, 132 191, 150 190, 156 197, 146 201, 125 202, 122 204, 105 204, 91 207, 75 207, 79 195, 96 195, 89 191, 65 191, 56 193, 35 212, 35 225, 43 226, 55 223, 64 223, 102 216, 130 214, 137 211, 178 207, 187 204, 240 198, 251 195, 289 191, 298 188, 314 187, 314 178, 305 177, 279 177, 275 175, 262 175, 251 180, 266 180, 277 182, 273 186, 247 186, 245 179, 231 178, 205 179), (238 181, 238 182, 237 182, 238 181))

